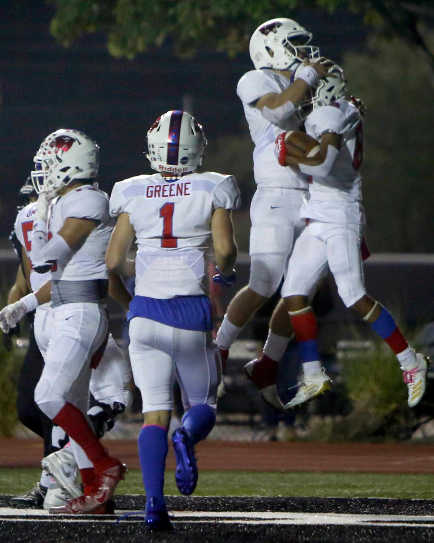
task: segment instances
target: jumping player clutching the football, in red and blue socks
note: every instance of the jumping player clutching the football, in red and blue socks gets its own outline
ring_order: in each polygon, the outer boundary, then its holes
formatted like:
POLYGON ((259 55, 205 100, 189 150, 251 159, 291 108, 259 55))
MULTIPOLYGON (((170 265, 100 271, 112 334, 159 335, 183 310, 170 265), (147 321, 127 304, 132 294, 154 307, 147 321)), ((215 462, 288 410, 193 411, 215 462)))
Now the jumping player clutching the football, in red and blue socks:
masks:
MULTIPOLYGON (((312 179, 300 211, 300 218, 308 225, 295 243, 282 297, 295 331, 304 375, 306 368, 320 374, 317 325, 308 294, 329 267, 344 304, 369 323, 397 356, 408 387, 408 405, 414 407, 424 395, 430 361, 409 346, 390 312, 365 290, 361 258, 365 213, 360 175, 363 121, 358 108, 345 99, 345 83, 341 68, 335 65, 307 100, 306 105, 310 102, 313 110, 305 129, 320 142, 314 156, 291 156, 285 133, 276 140, 279 164, 312 179)), ((308 396, 307 383, 303 382, 285 408, 307 401, 308 396)))

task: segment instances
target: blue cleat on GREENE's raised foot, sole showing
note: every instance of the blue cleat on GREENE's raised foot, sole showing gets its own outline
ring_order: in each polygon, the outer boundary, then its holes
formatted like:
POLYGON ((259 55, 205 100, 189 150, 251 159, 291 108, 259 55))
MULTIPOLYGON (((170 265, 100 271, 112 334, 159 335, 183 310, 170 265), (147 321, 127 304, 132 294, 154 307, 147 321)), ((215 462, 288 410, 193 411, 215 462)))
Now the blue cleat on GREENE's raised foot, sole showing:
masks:
POLYGON ((189 496, 197 484, 197 466, 194 446, 185 428, 178 428, 172 434, 176 457, 175 482, 180 493, 189 496))

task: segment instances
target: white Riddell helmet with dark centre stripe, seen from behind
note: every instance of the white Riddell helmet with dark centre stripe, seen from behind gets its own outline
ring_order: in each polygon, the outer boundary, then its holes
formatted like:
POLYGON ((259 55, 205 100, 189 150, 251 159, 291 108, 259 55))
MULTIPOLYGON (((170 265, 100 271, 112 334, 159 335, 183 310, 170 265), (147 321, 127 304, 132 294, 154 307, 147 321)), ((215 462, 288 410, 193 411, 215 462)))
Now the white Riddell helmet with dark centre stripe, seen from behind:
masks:
POLYGON ((151 168, 182 175, 194 172, 202 163, 207 144, 202 126, 190 113, 171 110, 152 124, 146 135, 151 168))

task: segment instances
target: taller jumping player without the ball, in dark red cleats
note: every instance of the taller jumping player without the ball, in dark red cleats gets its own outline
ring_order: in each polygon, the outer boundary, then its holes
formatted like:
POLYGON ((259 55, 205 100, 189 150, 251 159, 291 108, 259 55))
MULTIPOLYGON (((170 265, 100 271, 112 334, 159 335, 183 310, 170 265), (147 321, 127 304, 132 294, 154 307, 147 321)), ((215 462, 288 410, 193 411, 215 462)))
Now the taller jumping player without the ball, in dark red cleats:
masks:
MULTIPOLYGON (((293 243, 305 223, 299 218, 308 176, 276 162, 274 142, 282 130, 298 130, 299 105, 311 86, 327 75, 331 65, 309 45, 312 34, 297 22, 276 18, 261 24, 250 40, 254 70, 239 80, 237 94, 255 144, 253 196, 250 216, 250 279, 232 299, 217 334, 222 361, 248 320, 277 290, 288 265, 293 243)), ((218 279, 218 278, 217 278, 218 279)), ((249 362, 245 371, 263 399, 283 409, 275 377, 277 362, 292 335, 285 306, 279 303, 270 321, 264 354, 249 362)), ((321 374, 323 382, 329 381, 321 374)))

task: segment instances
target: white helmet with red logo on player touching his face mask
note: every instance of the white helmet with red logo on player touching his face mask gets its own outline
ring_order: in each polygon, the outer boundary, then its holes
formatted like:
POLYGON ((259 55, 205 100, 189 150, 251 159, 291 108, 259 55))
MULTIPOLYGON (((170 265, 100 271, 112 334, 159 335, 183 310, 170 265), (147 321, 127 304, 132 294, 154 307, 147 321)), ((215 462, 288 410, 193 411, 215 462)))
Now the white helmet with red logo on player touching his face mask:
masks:
POLYGON ((31 180, 35 191, 53 197, 75 179, 98 175, 99 147, 78 130, 60 128, 44 139, 33 161, 31 180))

